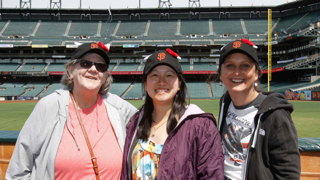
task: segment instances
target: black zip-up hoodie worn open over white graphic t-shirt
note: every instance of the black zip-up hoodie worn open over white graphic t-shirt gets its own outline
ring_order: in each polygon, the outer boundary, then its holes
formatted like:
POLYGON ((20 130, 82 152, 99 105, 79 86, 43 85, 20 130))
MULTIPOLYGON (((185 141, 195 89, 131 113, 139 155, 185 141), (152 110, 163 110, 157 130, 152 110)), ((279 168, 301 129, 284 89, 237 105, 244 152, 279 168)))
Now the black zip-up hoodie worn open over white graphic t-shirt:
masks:
MULTIPOLYGON (((243 179, 300 179, 298 136, 290 115, 293 104, 280 93, 262 94, 267 97, 254 117, 255 129, 249 142, 243 179)), ((220 99, 220 135, 230 103, 231 97, 226 92, 220 99)))

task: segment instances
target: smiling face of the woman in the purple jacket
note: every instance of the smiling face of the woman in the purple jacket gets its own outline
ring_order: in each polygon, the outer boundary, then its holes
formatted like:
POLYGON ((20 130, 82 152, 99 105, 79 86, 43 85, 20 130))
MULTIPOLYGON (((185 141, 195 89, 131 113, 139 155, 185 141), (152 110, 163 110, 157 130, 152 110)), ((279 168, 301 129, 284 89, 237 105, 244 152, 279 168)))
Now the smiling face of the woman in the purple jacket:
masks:
POLYGON ((165 65, 151 70, 145 82, 146 91, 154 103, 172 104, 180 85, 177 72, 165 65))

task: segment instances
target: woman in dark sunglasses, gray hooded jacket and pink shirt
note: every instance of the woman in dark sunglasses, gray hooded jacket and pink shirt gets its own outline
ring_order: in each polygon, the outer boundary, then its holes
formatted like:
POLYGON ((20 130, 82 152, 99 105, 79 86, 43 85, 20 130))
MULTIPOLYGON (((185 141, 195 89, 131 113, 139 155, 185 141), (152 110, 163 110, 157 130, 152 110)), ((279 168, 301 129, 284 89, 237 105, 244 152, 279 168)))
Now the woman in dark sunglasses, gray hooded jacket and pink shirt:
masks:
POLYGON ((6 179, 120 179, 125 125, 137 109, 108 93, 107 52, 101 43, 78 46, 65 87, 42 98, 23 126, 6 179))

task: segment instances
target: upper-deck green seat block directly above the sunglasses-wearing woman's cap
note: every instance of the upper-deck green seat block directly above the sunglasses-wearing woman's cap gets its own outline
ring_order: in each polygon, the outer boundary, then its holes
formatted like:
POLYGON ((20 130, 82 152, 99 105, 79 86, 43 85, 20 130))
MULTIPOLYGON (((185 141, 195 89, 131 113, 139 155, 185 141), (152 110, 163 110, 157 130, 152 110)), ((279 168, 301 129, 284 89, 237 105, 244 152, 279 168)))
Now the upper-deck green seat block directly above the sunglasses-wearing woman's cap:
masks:
POLYGON ((99 21, 77 21, 73 20, 70 24, 68 36, 96 36, 99 21))

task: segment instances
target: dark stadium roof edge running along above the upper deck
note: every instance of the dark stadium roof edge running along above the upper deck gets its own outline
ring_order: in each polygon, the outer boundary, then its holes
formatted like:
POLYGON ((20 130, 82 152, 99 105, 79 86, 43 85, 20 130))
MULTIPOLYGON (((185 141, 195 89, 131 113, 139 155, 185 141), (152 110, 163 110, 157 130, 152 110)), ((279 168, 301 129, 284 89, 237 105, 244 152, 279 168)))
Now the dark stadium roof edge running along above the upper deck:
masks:
MULTIPOLYGON (((186 8, 141 8, 111 9, 112 14, 159 14, 191 12, 282 12, 299 7, 316 4, 314 0, 299 0, 278 6, 245 6, 245 7, 186 7, 186 8)), ((108 9, 33 9, 33 8, 0 8, 1 14, 109 14, 108 9)))

